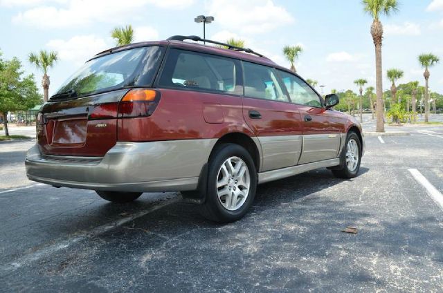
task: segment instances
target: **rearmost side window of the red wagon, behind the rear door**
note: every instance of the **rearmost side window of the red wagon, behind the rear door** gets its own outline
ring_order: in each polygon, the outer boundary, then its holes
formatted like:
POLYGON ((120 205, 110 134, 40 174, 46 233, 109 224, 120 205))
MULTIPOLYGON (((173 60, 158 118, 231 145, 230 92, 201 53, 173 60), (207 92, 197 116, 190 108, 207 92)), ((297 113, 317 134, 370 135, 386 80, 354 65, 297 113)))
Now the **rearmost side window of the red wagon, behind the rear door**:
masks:
POLYGON ((159 86, 242 95, 240 72, 235 59, 172 49, 159 86))

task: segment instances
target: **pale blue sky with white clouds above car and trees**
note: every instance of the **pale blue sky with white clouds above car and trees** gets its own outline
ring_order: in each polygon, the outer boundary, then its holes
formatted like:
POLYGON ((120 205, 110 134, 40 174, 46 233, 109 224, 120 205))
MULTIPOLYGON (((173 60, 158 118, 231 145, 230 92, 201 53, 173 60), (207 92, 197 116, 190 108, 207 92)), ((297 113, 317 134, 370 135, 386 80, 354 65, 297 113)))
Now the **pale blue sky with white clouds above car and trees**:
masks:
MULTIPOLYGON (((442 59, 431 68, 431 91, 443 93, 443 0, 399 0, 399 11, 381 17, 383 89, 390 88, 388 68, 404 70, 399 83, 418 80, 424 70, 417 57, 433 53, 442 59)), ((132 24, 135 41, 167 39, 172 35, 203 35, 197 15, 215 21, 206 37, 244 39, 252 48, 289 67, 285 45, 304 48, 296 62, 298 73, 324 85, 324 93, 352 89, 355 79, 375 86, 372 19, 360 0, 0 0, 0 50, 18 57, 25 72, 42 73, 28 64, 38 50, 55 50, 60 60, 49 70, 50 95, 90 57, 115 46, 116 26, 132 24)), ((319 89, 320 91, 320 89, 319 89)))

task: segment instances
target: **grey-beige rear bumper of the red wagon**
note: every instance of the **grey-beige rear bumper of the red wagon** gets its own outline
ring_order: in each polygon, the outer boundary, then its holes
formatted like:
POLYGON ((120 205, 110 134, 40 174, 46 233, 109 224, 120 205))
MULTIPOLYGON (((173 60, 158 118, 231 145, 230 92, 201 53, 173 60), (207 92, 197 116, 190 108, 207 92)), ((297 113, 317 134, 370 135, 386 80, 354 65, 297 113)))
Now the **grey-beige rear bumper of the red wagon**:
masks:
POLYGON ((55 187, 109 191, 187 191, 217 140, 118 142, 103 158, 44 156, 35 145, 26 154, 30 180, 55 187))

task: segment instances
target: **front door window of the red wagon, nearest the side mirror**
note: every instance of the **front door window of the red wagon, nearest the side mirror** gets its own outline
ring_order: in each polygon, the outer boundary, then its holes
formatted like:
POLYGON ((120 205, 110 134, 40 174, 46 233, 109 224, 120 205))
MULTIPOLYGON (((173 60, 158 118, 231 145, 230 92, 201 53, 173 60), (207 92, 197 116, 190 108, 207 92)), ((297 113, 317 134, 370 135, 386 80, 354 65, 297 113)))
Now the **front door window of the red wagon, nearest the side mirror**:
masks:
POLYGON ((320 97, 306 82, 286 71, 278 70, 278 73, 287 88, 291 102, 318 108, 322 106, 320 97))

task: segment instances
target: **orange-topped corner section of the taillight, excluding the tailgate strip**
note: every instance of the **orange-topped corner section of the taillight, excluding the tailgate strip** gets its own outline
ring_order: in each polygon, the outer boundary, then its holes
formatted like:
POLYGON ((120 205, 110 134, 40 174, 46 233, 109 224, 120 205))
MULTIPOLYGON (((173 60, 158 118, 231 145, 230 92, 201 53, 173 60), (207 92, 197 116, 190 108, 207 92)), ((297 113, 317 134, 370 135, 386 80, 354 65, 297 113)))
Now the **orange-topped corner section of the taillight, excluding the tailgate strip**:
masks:
POLYGON ((134 88, 127 92, 118 106, 118 117, 146 117, 154 113, 160 101, 159 91, 134 88))

